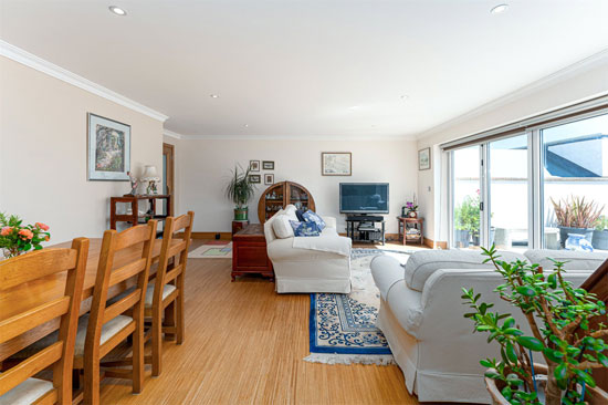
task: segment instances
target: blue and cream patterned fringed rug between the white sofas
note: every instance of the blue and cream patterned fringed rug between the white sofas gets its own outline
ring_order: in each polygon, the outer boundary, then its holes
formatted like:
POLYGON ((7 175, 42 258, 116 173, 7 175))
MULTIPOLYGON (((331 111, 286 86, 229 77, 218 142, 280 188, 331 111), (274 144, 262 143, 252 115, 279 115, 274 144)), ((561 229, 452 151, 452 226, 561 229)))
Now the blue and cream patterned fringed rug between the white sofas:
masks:
POLYGON ((353 249, 349 294, 311 294, 310 350, 304 360, 326 364, 394 364, 382 332, 376 328, 380 292, 370 263, 376 256, 392 256, 405 263, 402 251, 353 249))

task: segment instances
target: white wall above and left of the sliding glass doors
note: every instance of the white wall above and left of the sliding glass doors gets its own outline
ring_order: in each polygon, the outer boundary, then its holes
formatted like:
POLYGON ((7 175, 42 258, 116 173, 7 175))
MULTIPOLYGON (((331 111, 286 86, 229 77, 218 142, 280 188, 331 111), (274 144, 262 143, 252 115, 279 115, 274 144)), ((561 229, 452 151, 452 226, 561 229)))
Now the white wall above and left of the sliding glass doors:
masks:
MULTIPOLYGON (((494 102, 492 106, 481 107, 421 134, 418 149, 431 147, 433 152, 431 170, 418 173, 420 210, 427 221, 424 236, 442 241, 448 238, 447 167, 445 158, 439 149, 440 144, 606 93, 608 58, 576 70, 563 71, 553 79, 543 80, 494 102)), ((458 102, 457 96, 454 102, 458 102)))

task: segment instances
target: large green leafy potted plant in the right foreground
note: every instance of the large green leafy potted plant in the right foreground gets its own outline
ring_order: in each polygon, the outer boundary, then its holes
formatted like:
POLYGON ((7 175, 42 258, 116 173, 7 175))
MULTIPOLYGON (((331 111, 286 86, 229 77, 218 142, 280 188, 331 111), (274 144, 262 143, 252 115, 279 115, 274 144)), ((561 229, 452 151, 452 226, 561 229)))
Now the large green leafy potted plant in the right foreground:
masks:
POLYGON ((591 376, 594 368, 608 367, 606 304, 565 281, 564 262, 554 261, 554 271, 545 272, 526 261, 499 260, 494 246, 482 250, 485 262, 491 261, 504 279, 495 291, 525 314, 532 331, 532 336, 526 336, 513 316, 489 311, 492 303, 481 302, 481 294, 472 289, 462 289, 462 299, 473 310, 464 316, 474 322, 475 332, 490 333, 489 343, 495 341, 501 346, 501 360, 480 362, 488 368, 485 383, 494 404, 608 401, 608 394, 596 387, 591 376), (598 318, 600 322, 589 322, 598 318))

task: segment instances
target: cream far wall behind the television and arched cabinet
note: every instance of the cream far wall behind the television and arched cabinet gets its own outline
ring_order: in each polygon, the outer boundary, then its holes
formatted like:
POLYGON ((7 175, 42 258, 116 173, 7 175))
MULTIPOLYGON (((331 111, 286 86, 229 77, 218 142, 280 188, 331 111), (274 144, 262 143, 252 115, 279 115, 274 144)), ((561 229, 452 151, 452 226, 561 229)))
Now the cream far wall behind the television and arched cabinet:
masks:
MULTIPOLYGON (((387 232, 397 233, 396 217, 407 198, 417 189, 415 141, 212 141, 176 139, 179 166, 179 204, 176 214, 195 210, 195 231, 230 231, 233 205, 223 195, 234 164, 247 167, 249 160, 274 160, 274 181, 300 183, 311 191, 316 211, 338 218, 338 230, 345 231, 339 214, 338 184, 347 181, 386 181, 390 184, 390 214, 387 232), (322 152, 352 152, 353 176, 321 175, 322 152)), ((258 201, 265 190, 258 186, 250 201, 250 220, 259 222, 258 201)))

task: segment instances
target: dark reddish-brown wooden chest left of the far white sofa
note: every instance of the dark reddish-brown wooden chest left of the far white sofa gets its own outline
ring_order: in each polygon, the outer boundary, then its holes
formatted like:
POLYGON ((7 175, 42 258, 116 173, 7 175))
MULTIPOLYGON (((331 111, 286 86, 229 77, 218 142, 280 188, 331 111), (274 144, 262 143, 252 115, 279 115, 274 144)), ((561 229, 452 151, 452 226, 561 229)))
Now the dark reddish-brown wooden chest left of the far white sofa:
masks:
POLYGON ((232 237, 232 281, 244 274, 262 274, 274 280, 264 227, 260 224, 248 225, 232 237))

